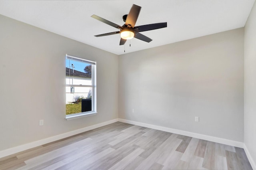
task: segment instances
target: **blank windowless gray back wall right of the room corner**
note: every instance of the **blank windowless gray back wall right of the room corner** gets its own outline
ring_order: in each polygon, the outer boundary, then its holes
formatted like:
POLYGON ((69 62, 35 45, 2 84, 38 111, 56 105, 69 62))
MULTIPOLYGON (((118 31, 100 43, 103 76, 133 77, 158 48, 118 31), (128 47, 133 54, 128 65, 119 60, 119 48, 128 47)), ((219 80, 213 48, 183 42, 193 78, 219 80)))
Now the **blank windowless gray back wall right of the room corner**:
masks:
POLYGON ((121 119, 243 142, 244 29, 120 55, 118 95, 121 119))

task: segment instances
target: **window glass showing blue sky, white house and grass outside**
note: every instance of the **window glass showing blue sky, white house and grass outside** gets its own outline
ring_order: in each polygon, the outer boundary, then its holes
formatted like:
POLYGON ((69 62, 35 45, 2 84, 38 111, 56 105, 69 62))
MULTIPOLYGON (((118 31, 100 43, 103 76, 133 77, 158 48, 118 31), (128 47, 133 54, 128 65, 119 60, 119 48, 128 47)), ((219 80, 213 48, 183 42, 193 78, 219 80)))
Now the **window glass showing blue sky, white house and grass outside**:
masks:
POLYGON ((92 109, 94 72, 91 63, 66 57, 66 115, 95 111, 92 109))

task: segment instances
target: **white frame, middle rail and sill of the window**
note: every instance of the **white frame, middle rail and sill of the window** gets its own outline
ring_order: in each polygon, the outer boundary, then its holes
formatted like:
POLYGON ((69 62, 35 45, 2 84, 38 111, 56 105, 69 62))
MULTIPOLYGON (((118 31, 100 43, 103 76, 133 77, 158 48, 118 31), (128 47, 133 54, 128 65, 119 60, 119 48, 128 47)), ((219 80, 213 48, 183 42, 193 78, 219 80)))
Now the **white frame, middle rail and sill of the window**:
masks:
MULTIPOLYGON (((93 116, 97 114, 97 103, 96 103, 96 61, 91 61, 88 59, 82 59, 74 55, 66 54, 66 59, 72 59, 74 61, 80 61, 92 64, 92 85, 70 85, 66 84, 66 87, 92 87, 92 111, 74 113, 66 115, 66 120, 78 119, 81 117, 93 116)), ((65 112, 66 113, 66 112, 65 112)))

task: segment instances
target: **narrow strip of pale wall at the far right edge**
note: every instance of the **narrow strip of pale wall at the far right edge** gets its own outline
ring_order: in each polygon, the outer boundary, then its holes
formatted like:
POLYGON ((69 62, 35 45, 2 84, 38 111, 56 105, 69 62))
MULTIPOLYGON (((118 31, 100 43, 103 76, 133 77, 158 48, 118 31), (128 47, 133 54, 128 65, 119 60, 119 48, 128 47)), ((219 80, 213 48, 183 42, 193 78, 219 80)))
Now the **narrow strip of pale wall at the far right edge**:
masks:
POLYGON ((256 3, 244 29, 244 144, 256 166, 256 3))

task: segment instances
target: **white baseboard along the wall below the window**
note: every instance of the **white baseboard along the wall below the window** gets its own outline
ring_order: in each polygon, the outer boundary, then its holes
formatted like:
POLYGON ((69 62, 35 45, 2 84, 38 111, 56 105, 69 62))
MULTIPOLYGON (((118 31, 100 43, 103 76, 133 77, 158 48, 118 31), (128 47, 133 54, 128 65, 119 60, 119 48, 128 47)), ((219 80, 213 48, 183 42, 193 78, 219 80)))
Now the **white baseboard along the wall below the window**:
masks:
POLYGON ((117 121, 118 121, 118 119, 113 119, 113 120, 102 122, 102 123, 99 123, 99 124, 96 124, 96 125, 92 125, 92 126, 89 126, 89 127, 84 127, 84 128, 80 128, 80 129, 77 129, 77 130, 73 130, 71 132, 66 132, 66 133, 58 134, 56 136, 52 136, 52 137, 45 138, 45 139, 42 139, 42 140, 37 140, 35 142, 23 144, 23 145, 16 146, 16 147, 13 147, 13 148, 9 148, 9 149, 6 149, 6 150, 1 150, 0 151, 0 158, 2 158, 4 156, 8 156, 8 155, 11 155, 11 154, 15 154, 15 153, 21 152, 23 150, 34 148, 36 146, 47 144, 49 142, 60 140, 60 139, 63 139, 63 138, 66 138, 66 137, 69 137, 69 136, 72 136, 72 135, 75 135, 75 134, 86 132, 86 131, 92 130, 94 128, 103 127, 105 125, 109 125, 109 124, 115 123, 117 121))

